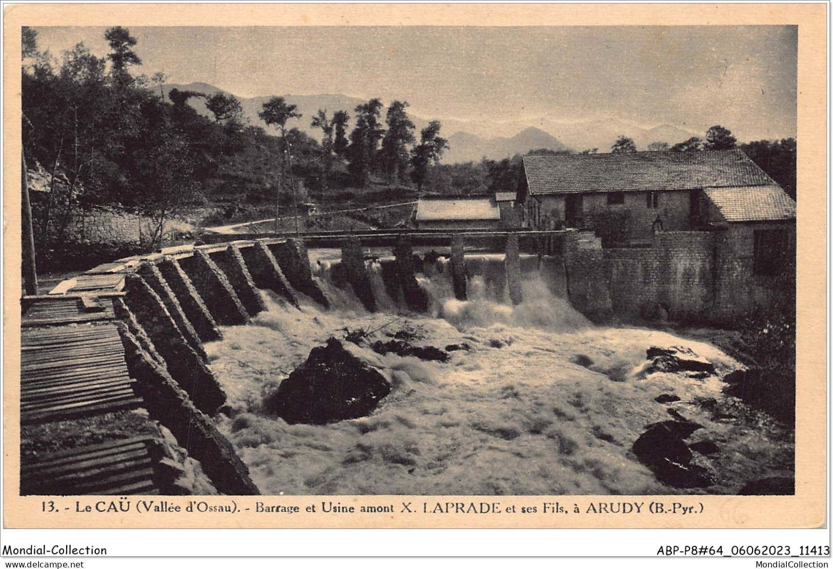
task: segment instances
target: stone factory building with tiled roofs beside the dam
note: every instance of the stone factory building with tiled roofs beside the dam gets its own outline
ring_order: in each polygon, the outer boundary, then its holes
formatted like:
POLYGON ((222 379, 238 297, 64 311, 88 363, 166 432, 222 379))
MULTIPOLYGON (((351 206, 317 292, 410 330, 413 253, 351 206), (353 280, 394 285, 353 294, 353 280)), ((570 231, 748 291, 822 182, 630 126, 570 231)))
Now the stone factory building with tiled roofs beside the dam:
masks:
POLYGON ((742 151, 526 156, 523 166, 522 225, 601 238, 613 312, 731 324, 795 302, 796 201, 742 151))

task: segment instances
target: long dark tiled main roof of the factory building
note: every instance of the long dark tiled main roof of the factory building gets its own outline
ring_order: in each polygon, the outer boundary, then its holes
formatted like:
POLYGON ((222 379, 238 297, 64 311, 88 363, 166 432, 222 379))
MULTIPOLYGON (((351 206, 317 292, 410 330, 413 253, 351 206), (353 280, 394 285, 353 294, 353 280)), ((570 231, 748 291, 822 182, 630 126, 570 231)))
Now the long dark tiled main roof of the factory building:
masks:
POLYGON ((525 156, 531 195, 771 186, 739 150, 525 156))

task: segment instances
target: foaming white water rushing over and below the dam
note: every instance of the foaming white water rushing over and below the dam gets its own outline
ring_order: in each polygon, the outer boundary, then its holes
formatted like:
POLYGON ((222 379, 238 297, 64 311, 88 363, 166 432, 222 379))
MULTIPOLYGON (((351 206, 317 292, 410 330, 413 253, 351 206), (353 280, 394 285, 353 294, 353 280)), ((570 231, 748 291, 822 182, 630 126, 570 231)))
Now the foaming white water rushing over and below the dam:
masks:
MULTIPOLYGON (((468 260, 467 260, 468 261, 468 260)), ((523 303, 504 302, 496 285, 500 260, 484 258, 468 283, 470 300, 453 299, 440 260, 420 277, 430 315, 403 311, 385 292, 378 263, 369 266, 383 311, 369 314, 355 295, 327 280, 327 261, 313 263, 332 301, 298 310, 264 293, 268 310, 249 326, 223 328, 207 344, 212 370, 235 413, 220 415, 265 494, 657 494, 736 493, 756 478, 792 475, 789 433, 721 393, 716 376, 640 373, 652 345, 684 345, 716 365, 738 364, 709 344, 650 329, 598 328, 551 292, 539 272, 526 273, 523 303), (382 294, 382 293, 385 294, 382 294), (358 349, 384 369, 392 393, 367 418, 328 425, 289 425, 259 412, 270 393, 310 349, 347 330, 414 345, 466 344, 446 363, 358 349), (592 361, 589 368, 574 362, 592 361), (656 403, 661 393, 680 398, 656 403), (689 443, 708 440, 720 452, 696 463, 711 487, 678 490, 658 482, 631 447, 668 408, 700 423, 689 443)), ((524 260, 527 266, 535 260, 524 260)), ((477 262, 469 263, 477 265, 477 262)), ((546 269, 546 267, 545 267, 546 269)), ((472 271, 474 272, 474 271, 472 271)))

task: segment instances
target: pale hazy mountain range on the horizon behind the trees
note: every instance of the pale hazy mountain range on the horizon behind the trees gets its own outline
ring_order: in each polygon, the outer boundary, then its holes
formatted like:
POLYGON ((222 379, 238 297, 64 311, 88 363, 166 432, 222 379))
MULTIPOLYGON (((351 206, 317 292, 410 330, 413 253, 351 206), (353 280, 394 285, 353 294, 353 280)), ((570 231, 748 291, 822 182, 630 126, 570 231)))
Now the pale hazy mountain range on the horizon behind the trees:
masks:
MULTIPOLYGON (((163 85, 162 91, 165 92, 167 97, 167 93, 174 88, 180 91, 195 91, 206 95, 217 92, 231 94, 218 87, 201 82, 188 85, 163 85)), ((243 113, 250 124, 263 126, 267 128, 267 131, 274 132, 257 116, 257 113, 262 111, 263 103, 270 98, 272 97, 237 96, 243 108, 243 113)), ((297 105, 298 111, 303 115, 301 119, 288 121, 287 127, 296 127, 316 140, 321 139, 322 132, 320 129, 313 129, 310 126, 310 121, 312 121, 312 116, 315 116, 318 109, 326 109, 328 116, 332 116, 335 111, 344 110, 350 113, 352 118, 355 115, 353 109, 366 102, 363 99, 347 95, 283 95, 283 98, 288 103, 297 105)), ((188 104, 194 107, 197 112, 206 116, 210 115, 205 106, 205 101, 202 99, 189 99, 188 104)), ((576 122, 563 122, 548 117, 526 121, 460 121, 443 119, 442 117, 425 118, 413 113, 408 113, 408 115, 416 126, 417 137, 421 128, 427 126, 429 121, 439 118, 442 123, 441 136, 448 139, 449 143, 449 150, 442 156, 442 162, 445 164, 479 161, 484 156, 491 160, 501 160, 539 148, 547 148, 553 151, 583 151, 596 148, 599 152, 609 152, 614 141, 620 135, 630 136, 639 150, 646 150, 651 142, 661 141, 674 145, 677 142, 687 140, 691 136, 703 136, 704 134, 671 125, 646 128, 612 117, 576 122), (496 136, 496 133, 503 136, 496 136)), ((384 117, 385 111, 382 110, 383 121, 384 117)))

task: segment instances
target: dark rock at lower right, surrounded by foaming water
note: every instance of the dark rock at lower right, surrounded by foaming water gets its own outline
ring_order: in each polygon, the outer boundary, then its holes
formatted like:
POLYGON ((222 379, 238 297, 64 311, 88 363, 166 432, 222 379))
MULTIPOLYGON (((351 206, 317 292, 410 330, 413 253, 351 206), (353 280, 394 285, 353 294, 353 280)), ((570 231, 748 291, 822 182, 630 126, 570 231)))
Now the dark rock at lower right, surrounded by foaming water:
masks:
POLYGON ((691 464, 691 450, 683 438, 700 428, 696 423, 663 421, 652 424, 633 443, 633 453, 661 482, 677 488, 711 486, 705 468, 691 464))

